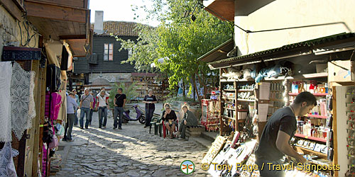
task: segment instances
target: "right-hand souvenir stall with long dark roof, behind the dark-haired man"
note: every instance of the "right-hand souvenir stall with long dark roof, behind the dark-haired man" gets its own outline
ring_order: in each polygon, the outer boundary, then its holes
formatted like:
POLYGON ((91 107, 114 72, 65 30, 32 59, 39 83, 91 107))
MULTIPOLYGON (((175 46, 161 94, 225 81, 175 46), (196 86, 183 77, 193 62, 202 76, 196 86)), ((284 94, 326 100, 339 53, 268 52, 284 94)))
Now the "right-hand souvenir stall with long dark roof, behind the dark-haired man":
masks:
MULTIPOLYGON (((287 176, 354 176, 354 47, 342 47, 349 41, 354 46, 354 39, 354 33, 340 34, 210 62, 209 67, 220 72, 220 135, 202 163, 234 168, 209 168, 209 173, 259 176, 257 168, 247 165, 255 164, 253 152, 263 127, 275 110, 290 105, 298 93, 309 91, 317 105, 297 117, 290 144, 307 159, 305 166, 332 168, 293 166, 286 170, 287 176), (329 51, 316 52, 324 48, 329 51)), ((284 158, 285 165, 295 162, 284 158)))

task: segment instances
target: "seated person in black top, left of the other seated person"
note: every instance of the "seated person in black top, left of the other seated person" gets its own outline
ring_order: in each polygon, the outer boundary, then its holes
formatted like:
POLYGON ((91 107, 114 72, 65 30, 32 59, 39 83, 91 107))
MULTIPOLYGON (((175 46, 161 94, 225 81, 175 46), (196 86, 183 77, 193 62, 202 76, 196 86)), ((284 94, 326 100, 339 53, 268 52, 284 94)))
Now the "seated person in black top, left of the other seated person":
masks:
POLYGON ((171 110, 169 103, 165 103, 164 108, 165 110, 161 114, 160 118, 163 120, 165 127, 169 130, 170 138, 173 139, 174 138, 173 132, 175 130, 175 125, 177 123, 176 122, 177 117, 175 111, 171 110))

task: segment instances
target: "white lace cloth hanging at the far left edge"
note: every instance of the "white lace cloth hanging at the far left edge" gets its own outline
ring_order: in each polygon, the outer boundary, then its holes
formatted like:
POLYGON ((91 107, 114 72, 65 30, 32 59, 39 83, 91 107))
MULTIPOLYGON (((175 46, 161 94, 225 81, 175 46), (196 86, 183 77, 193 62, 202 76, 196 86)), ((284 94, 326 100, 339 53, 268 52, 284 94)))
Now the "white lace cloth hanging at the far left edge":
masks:
POLYGON ((0 62, 0 142, 11 142, 11 62, 0 62))

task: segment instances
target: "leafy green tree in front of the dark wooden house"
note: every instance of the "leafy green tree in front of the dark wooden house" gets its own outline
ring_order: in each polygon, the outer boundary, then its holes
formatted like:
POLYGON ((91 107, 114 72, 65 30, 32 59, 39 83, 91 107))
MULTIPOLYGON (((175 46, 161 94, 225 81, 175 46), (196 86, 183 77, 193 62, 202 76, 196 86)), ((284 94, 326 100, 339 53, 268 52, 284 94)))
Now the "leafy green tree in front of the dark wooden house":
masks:
POLYGON ((233 24, 212 16, 197 0, 158 0, 153 1, 153 4, 150 9, 141 8, 149 13, 148 19, 160 21, 158 27, 138 25, 138 41, 118 38, 122 42, 121 50, 133 49, 133 56, 125 62, 135 64, 136 69, 142 72, 167 74, 170 89, 176 89, 182 79, 184 84, 192 82, 190 88, 197 91, 197 78, 206 93, 206 77, 211 71, 206 63, 197 61, 197 58, 232 38, 233 24), (192 21, 192 16, 195 21, 192 21), (164 59, 164 62, 160 63, 158 59, 164 59), (152 62, 158 69, 151 69, 152 62))

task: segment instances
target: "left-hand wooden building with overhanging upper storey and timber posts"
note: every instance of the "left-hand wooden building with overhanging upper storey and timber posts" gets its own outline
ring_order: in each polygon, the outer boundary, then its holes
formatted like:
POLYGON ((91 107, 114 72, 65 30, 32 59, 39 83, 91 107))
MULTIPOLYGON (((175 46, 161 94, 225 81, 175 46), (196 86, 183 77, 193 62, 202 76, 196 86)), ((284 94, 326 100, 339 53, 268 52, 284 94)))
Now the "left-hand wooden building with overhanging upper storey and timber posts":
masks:
MULTIPOLYGON (((4 46, 42 49, 46 60, 13 58, 26 71, 35 72, 35 112, 32 127, 25 130, 18 140, 13 136, 11 146, 19 155, 13 158, 17 176, 38 176, 43 167, 43 123, 45 118, 45 93, 47 64, 62 64, 61 81, 65 93, 67 71, 72 69, 72 57, 84 57, 90 50, 90 28, 88 0, 0 0, 0 55, 4 46), (65 45, 65 47, 63 47, 65 45), (44 50, 44 48, 46 50, 44 50), (62 58, 62 49, 69 57, 62 58), (45 51, 45 52, 44 52, 45 51), (63 64, 63 62, 68 62, 63 64)), ((65 110, 65 103, 61 110, 65 110)), ((63 118, 61 118, 63 119, 63 118)), ((0 143, 0 149, 4 143, 0 143)), ((47 161, 49 164, 49 161, 47 161)), ((47 163, 46 162, 46 163, 47 163)), ((49 175, 49 166, 46 173, 49 175)))

